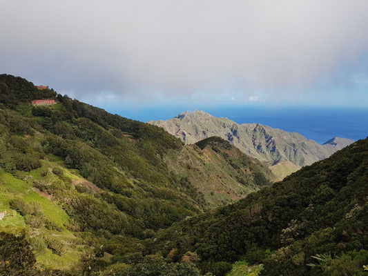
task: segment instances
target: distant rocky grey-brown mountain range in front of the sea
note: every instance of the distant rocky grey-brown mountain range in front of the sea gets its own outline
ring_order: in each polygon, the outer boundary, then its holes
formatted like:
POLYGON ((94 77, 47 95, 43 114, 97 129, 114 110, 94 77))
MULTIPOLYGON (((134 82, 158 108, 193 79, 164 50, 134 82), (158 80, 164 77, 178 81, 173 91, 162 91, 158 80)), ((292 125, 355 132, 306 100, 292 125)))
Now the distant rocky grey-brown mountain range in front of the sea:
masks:
POLYGON ((266 162, 279 179, 302 166, 325 159, 354 142, 335 137, 321 145, 296 132, 262 124, 237 124, 227 118, 213 117, 202 110, 186 111, 173 119, 148 123, 161 126, 186 144, 194 144, 212 136, 222 137, 247 155, 266 162))

